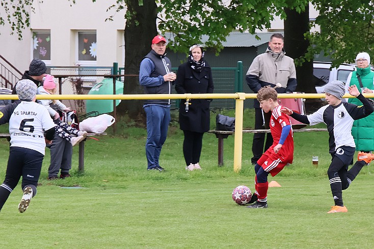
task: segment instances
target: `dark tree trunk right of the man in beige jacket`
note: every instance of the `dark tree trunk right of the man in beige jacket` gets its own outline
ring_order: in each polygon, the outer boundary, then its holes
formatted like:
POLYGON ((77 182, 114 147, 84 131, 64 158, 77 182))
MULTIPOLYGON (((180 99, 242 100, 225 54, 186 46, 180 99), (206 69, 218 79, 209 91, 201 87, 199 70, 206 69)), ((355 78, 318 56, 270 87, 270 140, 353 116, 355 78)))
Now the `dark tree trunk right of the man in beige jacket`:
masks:
MULTIPOLYGON (((302 13, 296 10, 285 8, 287 18, 284 20, 284 50, 291 58, 303 56, 310 45, 304 38, 304 34, 309 32, 309 8, 302 13)), ((296 66, 296 78, 298 81, 297 91, 306 93, 316 93, 315 82, 313 80, 313 61, 304 61, 301 66, 296 66)), ((305 109, 307 112, 314 112, 319 108, 319 99, 307 99, 305 109)))

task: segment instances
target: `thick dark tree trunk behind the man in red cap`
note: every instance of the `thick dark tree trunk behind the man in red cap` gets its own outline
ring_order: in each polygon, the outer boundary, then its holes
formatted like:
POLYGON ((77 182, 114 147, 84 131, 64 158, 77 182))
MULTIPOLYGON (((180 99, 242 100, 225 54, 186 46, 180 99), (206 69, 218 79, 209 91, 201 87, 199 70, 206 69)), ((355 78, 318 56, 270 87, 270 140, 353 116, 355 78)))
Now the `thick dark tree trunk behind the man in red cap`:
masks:
MULTIPOLYGON (((123 94, 143 94, 143 87, 139 85, 139 66, 143 57, 151 50, 151 43, 157 35, 156 28, 156 3, 155 1, 139 0, 125 1, 127 6, 125 27, 125 74, 137 76, 124 77, 123 94), (131 14, 135 13, 135 14, 131 14)), ((143 100, 122 101, 117 107, 120 115, 127 113, 131 119, 144 122, 143 100)))

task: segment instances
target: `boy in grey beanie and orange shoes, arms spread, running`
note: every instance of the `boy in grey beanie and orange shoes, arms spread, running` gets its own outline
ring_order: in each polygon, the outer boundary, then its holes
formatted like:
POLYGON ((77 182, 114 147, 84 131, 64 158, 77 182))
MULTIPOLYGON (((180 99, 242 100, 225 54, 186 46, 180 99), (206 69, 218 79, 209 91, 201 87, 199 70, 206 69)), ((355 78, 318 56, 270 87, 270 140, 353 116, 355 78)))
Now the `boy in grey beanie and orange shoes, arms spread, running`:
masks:
POLYGON ((348 212, 348 209, 343 205, 342 190, 348 189, 362 167, 374 159, 373 154, 360 152, 358 161, 348 170, 355 154, 355 141, 351 134, 353 121, 364 118, 374 111, 367 99, 360 94, 356 85, 350 86, 348 90, 350 95, 362 102, 363 106, 342 102, 341 98, 345 93, 344 83, 334 80, 325 87, 326 101, 329 105, 319 108, 315 113, 306 116, 295 113, 286 107, 282 109, 282 112, 311 126, 320 122, 327 125, 329 152, 332 157, 327 174, 335 202, 328 213, 348 212))

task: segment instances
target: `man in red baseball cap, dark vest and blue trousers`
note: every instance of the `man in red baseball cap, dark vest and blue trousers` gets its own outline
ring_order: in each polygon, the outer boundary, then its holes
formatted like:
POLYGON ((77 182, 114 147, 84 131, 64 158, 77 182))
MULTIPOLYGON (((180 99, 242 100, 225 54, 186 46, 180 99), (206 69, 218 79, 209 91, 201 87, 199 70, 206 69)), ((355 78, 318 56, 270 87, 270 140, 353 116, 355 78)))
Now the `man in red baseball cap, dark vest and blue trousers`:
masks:
MULTIPOLYGON (((165 38, 155 36, 151 48, 140 63, 140 85, 144 86, 145 94, 171 94, 176 74, 171 72, 170 59, 165 56, 165 38)), ((170 100, 146 100, 143 108, 147 115, 147 169, 163 171, 158 159, 168 134, 170 100)))

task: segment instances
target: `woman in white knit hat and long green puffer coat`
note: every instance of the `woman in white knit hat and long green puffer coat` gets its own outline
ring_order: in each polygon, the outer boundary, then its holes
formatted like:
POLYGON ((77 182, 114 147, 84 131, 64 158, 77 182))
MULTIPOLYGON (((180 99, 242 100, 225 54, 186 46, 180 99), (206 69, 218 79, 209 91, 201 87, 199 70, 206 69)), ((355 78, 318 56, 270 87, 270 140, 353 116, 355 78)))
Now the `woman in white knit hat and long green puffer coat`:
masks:
MULTIPOLYGON (((374 90, 374 72, 370 70, 370 56, 366 52, 357 54, 356 71, 352 72, 346 81, 345 89, 356 85, 362 94, 372 94, 374 90), (360 84, 361 80, 361 84, 360 84)), ((346 91, 348 92, 348 90, 346 91)), ((356 99, 348 99, 349 103, 361 106, 362 103, 356 99)), ((369 116, 355 120, 352 127, 352 135, 355 139, 356 150, 369 152, 374 150, 374 113, 369 116)))

